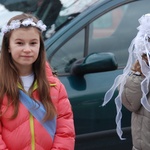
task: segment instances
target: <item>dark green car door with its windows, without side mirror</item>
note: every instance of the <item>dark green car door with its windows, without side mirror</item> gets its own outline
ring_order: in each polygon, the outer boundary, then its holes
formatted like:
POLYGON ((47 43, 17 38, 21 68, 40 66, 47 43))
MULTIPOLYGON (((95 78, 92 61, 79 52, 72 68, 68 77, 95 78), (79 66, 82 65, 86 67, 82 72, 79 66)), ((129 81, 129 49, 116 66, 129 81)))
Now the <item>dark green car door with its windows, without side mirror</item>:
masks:
MULTIPOLYGON (((71 28, 68 26, 68 30, 65 30, 67 26, 64 27, 64 34, 62 32, 56 34, 58 40, 51 39, 55 41, 52 45, 48 46, 49 41, 46 41, 48 60, 65 85, 73 108, 76 134, 80 139, 77 140, 76 149, 109 149, 108 145, 112 146, 111 150, 119 149, 119 146, 121 149, 131 149, 129 131, 125 134, 126 141, 121 142, 116 137, 114 99, 105 107, 101 105, 106 91, 125 67, 128 47, 137 33, 138 18, 149 12, 149 6, 148 0, 108 1, 99 7, 95 6, 95 10, 91 12, 87 11, 86 17, 82 18, 82 15, 79 15, 78 18, 81 18, 78 22, 70 23, 71 28), (83 76, 70 73, 74 62, 97 52, 113 53, 118 69, 88 73, 83 76), (90 137, 98 137, 98 134, 101 134, 99 138, 91 140, 90 137), (88 135, 89 138, 87 138, 88 135), (109 144, 107 144, 108 141, 109 144)), ((122 127, 130 127, 130 112, 123 107, 122 113, 122 127)), ((126 128, 124 129, 126 131, 126 128)))

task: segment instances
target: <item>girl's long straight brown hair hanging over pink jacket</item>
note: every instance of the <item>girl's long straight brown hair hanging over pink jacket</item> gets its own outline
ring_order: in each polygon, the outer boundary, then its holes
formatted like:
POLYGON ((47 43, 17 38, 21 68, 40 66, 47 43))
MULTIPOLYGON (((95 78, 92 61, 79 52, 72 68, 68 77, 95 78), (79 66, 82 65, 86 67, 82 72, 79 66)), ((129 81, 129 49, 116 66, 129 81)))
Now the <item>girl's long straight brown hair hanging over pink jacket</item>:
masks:
MULTIPOLYGON (((8 25, 12 20, 20 20, 21 22, 24 19, 32 18, 35 23, 37 23, 38 19, 30 14, 21 14, 11 18, 8 22, 8 25)), ((21 26, 20 28, 25 28, 21 26)), ((26 28, 29 28, 27 26, 26 28)), ((14 107, 14 113, 12 114, 12 119, 15 118, 18 114, 19 110, 19 89, 18 83, 21 84, 19 72, 12 61, 11 54, 9 53, 9 39, 11 33, 13 31, 9 31, 4 34, 1 48, 1 58, 0 58, 0 106, 3 102, 3 97, 6 95, 8 97, 8 107, 12 105, 14 107)), ((45 63, 46 63, 46 54, 44 48, 44 42, 42 38, 41 31, 39 31, 40 35, 40 51, 37 60, 33 63, 33 72, 35 75, 35 79, 38 83, 38 94, 41 102, 45 106, 46 115, 44 120, 52 119, 56 115, 55 107, 51 101, 50 97, 50 83, 46 77, 45 63)), ((33 85, 29 89, 29 91, 33 90, 33 85)), ((32 92, 29 92, 32 93, 32 92)), ((29 94, 32 97, 32 94, 29 94)), ((2 114, 1 114, 2 115, 2 114)))

